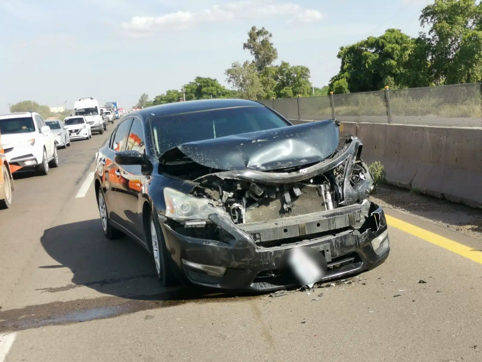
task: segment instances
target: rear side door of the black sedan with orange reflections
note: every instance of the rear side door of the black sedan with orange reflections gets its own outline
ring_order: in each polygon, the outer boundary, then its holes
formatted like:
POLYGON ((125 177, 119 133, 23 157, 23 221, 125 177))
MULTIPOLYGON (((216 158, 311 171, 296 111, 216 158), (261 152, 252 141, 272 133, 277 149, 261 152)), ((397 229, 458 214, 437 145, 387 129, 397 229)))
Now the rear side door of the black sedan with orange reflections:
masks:
POLYGON ((128 118, 117 125, 105 150, 105 158, 99 160, 102 164, 105 163, 104 182, 109 219, 114 223, 120 224, 123 228, 126 228, 126 226, 123 223, 124 218, 121 215, 123 208, 120 207, 119 204, 123 203, 126 187, 119 167, 117 167, 114 162, 114 157, 116 152, 125 150, 127 132, 131 127, 131 123, 132 118, 128 118))

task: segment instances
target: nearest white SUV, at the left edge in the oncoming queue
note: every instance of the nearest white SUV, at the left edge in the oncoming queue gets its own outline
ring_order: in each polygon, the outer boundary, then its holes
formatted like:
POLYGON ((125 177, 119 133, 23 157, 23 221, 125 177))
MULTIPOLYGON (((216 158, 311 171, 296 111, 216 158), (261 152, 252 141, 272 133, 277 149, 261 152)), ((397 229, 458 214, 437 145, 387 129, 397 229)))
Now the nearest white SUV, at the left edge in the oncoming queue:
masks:
POLYGON ((47 175, 49 167, 58 166, 54 134, 39 113, 0 115, 0 134, 7 161, 16 172, 36 169, 47 175))

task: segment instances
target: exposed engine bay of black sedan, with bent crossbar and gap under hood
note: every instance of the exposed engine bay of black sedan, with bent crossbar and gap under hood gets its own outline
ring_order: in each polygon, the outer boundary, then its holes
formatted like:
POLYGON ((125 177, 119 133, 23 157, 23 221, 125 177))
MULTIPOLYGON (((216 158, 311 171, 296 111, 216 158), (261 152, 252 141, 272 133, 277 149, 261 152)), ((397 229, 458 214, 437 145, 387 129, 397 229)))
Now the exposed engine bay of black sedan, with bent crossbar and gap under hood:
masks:
POLYGON ((166 165, 169 174, 196 183, 191 194, 226 210, 235 224, 265 223, 307 215, 367 199, 373 178, 357 138, 321 162, 281 170, 222 171, 187 157, 166 165))

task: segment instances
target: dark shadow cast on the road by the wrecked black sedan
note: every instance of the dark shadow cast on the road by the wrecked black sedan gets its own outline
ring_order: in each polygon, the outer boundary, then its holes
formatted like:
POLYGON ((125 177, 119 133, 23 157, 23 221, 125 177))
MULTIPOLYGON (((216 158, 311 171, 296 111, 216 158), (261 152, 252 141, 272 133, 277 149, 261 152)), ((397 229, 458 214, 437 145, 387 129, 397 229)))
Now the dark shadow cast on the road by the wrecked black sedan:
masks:
MULTIPOLYGON (((162 288, 151 255, 131 238, 108 240, 100 220, 55 226, 44 232, 41 244, 58 265, 42 269, 69 268, 72 283, 40 292, 65 292, 79 287, 136 300, 186 300, 224 298, 241 293, 219 293, 194 286, 162 288)), ((242 295, 250 295, 243 293, 242 295)))

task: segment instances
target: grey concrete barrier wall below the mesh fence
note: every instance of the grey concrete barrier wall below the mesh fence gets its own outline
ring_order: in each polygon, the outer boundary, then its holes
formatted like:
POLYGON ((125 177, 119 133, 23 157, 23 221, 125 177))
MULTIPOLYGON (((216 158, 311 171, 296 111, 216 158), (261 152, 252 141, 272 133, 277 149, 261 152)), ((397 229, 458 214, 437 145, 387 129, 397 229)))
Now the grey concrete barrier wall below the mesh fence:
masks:
POLYGON ((482 208, 482 129, 342 123, 340 137, 362 140, 388 183, 482 208))

